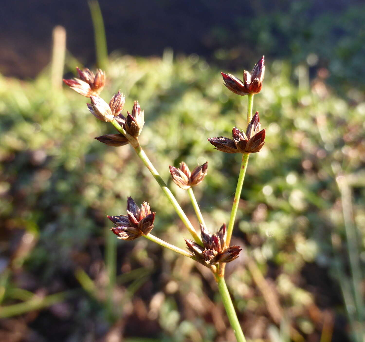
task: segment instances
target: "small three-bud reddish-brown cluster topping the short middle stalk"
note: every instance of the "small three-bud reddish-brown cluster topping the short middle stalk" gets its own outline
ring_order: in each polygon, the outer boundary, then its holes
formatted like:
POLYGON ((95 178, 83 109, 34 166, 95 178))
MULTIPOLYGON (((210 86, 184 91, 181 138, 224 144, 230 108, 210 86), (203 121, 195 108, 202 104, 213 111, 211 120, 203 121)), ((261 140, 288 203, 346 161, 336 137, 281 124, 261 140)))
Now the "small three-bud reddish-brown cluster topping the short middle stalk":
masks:
POLYGON ((190 172, 187 164, 180 163, 180 167, 174 167, 170 165, 170 172, 172 180, 181 189, 188 190, 191 186, 197 186, 203 182, 204 177, 207 175, 208 162, 203 165, 197 166, 193 172, 190 172))

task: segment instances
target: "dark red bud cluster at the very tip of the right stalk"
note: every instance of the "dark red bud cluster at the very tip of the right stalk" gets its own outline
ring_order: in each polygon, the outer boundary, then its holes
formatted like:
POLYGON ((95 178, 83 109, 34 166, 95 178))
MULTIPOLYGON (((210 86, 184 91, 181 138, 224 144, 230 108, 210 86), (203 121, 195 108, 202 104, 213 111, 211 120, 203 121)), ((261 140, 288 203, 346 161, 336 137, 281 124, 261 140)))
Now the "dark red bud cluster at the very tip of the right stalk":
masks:
POLYGON ((232 92, 238 95, 258 94, 262 88, 262 81, 265 74, 265 60, 261 57, 253 67, 251 73, 243 71, 243 82, 231 74, 221 72, 224 85, 232 92))

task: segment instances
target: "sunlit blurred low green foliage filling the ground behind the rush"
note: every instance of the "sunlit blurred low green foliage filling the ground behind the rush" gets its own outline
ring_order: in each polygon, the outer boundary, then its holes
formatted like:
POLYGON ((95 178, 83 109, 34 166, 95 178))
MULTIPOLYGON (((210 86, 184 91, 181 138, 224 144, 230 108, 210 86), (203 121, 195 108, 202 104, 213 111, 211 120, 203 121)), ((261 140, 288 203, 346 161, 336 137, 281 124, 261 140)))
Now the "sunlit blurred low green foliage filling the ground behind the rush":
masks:
MULTIPOLYGON (((333 340, 322 342, 346 341, 345 316, 353 341, 360 341, 356 322, 364 317, 352 299, 348 257, 356 253, 363 266, 364 95, 351 88, 349 98, 339 97, 323 79, 310 83, 306 72, 299 83, 308 86, 298 87, 290 64, 266 64, 263 90, 254 98, 266 143, 250 157, 233 242, 246 246, 276 289, 285 317, 308 341, 322 333, 313 307, 336 317, 333 340), (347 230, 339 176, 353 194, 347 204, 354 222, 347 230), (358 253, 347 248, 349 231, 358 253)), ((111 56, 101 95, 109 100, 119 89, 127 98, 124 112, 136 99, 145 110, 141 144, 193 224, 198 227, 189 198, 170 181, 169 164, 185 161, 193 168, 208 161, 208 175, 195 194, 211 231, 227 223, 241 156, 215 151, 207 138, 229 137, 234 125, 245 127, 246 98, 230 93, 219 70, 204 59, 173 58, 170 50, 162 59, 111 56)), ((93 140, 114 130, 93 118, 86 102, 68 89, 53 90, 48 71, 35 81, 0 79, 3 304, 30 298, 18 289, 44 295, 76 289, 72 300, 31 323, 40 341, 87 341, 86 335, 96 339, 108 331, 138 341, 230 340, 219 318, 222 304, 212 304, 219 298, 210 276, 145 239, 116 242, 115 285, 108 288, 103 258, 111 225, 105 216, 124 213, 128 195, 150 203, 155 235, 185 248, 188 233, 129 146, 93 140), (44 331, 56 323, 54 331, 44 331)), ((228 264, 227 272, 247 336, 278 341, 272 336, 286 330, 272 325, 245 257, 228 264)))

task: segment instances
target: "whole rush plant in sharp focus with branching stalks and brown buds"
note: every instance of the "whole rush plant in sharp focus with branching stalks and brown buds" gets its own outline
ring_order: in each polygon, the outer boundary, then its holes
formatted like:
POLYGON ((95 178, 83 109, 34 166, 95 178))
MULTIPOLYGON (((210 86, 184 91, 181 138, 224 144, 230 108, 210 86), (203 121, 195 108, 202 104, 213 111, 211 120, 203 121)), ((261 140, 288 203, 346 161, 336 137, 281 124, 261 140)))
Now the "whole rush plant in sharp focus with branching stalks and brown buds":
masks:
MULTIPOLYGON (((174 183, 181 189, 188 191, 192 206, 200 223, 198 233, 178 204, 165 181, 161 178, 160 174, 147 157, 138 140, 144 125, 144 111, 141 110, 138 101, 134 102, 131 113, 127 112, 127 115, 123 115, 122 110, 125 96, 123 96, 120 91, 111 98, 109 103, 105 102, 100 97, 100 92, 105 85, 105 72, 98 70, 96 75, 89 69, 77 69, 77 72, 80 77, 79 79, 64 80, 64 82, 80 95, 89 97, 91 103, 88 104, 88 109, 90 112, 97 119, 110 122, 118 132, 96 137, 96 139, 113 147, 120 147, 128 144, 132 146, 138 157, 143 161, 171 202, 173 208, 191 234, 192 239, 185 239, 188 249, 183 250, 151 234, 156 213, 151 212, 147 202, 143 202, 141 207, 139 207, 131 197, 128 197, 127 212, 125 215, 108 216, 114 225, 114 227, 111 228, 111 231, 118 236, 118 239, 123 240, 134 240, 145 237, 208 267, 216 280, 218 290, 222 296, 222 301, 237 341, 245 342, 245 335, 243 334, 224 279, 224 269, 226 263, 238 258, 242 250, 240 246, 232 246, 230 244, 235 217, 238 210, 239 199, 241 197, 241 190, 249 156, 251 153, 259 152, 265 142, 265 129, 261 129, 258 112, 252 117, 253 96, 261 91, 262 81, 264 79, 264 57, 254 65, 251 73, 248 71, 243 72, 243 81, 237 79, 233 75, 222 73, 224 85, 230 91, 241 96, 247 95, 247 127, 243 127, 243 130, 234 127, 232 132, 233 139, 226 137, 208 139, 218 151, 242 154, 241 168, 238 175, 237 188, 228 226, 226 227, 226 224, 223 223, 216 233, 213 234, 205 225, 204 218, 193 193, 193 187, 203 182, 204 177, 207 175, 208 164, 204 163, 201 166, 197 166, 193 171, 190 171, 187 164, 184 162, 182 162, 178 168, 170 166, 170 173, 174 183)), ((156 208, 156 210, 158 212, 158 208, 156 208)))

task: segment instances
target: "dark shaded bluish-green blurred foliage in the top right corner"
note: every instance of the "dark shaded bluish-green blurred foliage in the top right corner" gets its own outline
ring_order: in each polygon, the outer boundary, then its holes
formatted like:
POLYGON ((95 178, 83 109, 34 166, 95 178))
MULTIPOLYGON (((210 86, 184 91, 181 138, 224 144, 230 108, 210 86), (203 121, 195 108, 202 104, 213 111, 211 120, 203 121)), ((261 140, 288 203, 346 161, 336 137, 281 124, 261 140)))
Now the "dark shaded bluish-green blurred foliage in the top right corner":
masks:
POLYGON ((293 65, 324 66, 337 91, 364 90, 364 3, 283 0, 246 6, 248 13, 212 29, 217 60, 239 65, 242 58, 265 54, 293 65))

